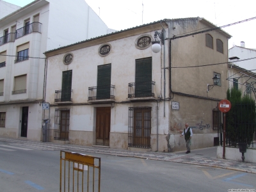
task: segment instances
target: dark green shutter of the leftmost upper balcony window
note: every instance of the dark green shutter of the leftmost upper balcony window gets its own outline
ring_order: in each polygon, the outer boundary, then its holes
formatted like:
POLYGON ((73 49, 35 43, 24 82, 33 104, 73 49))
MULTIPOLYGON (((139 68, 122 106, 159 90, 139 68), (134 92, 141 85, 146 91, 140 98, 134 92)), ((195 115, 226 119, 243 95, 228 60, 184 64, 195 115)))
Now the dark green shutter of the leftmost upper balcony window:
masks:
POLYGON ((62 72, 61 101, 71 100, 72 70, 62 72))

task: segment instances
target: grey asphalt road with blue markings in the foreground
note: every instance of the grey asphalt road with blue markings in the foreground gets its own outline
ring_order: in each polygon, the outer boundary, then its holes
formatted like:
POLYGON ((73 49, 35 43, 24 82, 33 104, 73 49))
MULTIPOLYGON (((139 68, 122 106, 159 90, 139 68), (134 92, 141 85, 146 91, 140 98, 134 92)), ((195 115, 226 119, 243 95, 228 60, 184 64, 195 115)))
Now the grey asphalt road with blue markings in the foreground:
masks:
MULTIPOLYGON (((196 153, 200 155, 200 151, 196 153)), ((212 153, 209 151, 209 156, 212 153)), ((101 159, 100 191, 256 189, 255 174, 105 154, 86 155, 101 159)), ((0 141, 0 191, 60 191, 60 151, 0 141)))

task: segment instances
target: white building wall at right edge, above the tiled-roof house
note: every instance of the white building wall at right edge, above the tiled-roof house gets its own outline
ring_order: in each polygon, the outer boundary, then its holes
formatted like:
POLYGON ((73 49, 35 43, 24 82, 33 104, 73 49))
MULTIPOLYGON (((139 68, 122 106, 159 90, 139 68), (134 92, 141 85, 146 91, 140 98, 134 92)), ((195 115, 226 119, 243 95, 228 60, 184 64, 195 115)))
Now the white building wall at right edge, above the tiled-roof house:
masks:
MULTIPOLYGON (((248 58, 256 57, 256 49, 248 49, 245 47, 234 46, 228 49, 228 58, 238 57, 239 60, 245 60, 248 58)), ((232 61, 232 60, 231 60, 232 61)), ((256 72, 256 61, 254 60, 246 60, 240 62, 234 62, 238 67, 245 68, 246 70, 253 70, 252 72, 256 72)))

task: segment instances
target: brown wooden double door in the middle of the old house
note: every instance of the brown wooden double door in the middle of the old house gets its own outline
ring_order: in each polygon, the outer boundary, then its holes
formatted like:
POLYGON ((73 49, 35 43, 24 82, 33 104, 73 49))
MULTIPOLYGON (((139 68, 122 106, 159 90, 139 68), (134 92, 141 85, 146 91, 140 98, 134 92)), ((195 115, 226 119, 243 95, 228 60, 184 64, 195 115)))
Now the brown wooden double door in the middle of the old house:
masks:
POLYGON ((97 108, 96 111, 96 145, 109 146, 111 108, 97 108))

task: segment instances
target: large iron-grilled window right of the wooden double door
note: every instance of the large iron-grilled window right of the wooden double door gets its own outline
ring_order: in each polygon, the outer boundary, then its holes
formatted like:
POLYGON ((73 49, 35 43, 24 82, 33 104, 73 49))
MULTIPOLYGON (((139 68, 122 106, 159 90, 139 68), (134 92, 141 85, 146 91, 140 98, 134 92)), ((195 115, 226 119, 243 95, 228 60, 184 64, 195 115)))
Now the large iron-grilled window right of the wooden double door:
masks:
POLYGON ((151 107, 129 108, 128 147, 151 147, 151 109, 151 107))

